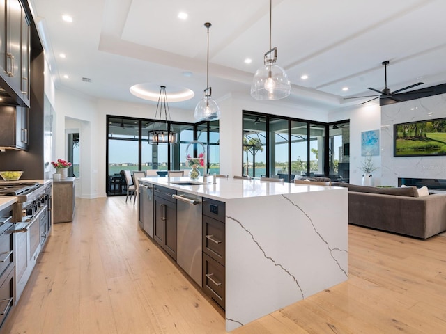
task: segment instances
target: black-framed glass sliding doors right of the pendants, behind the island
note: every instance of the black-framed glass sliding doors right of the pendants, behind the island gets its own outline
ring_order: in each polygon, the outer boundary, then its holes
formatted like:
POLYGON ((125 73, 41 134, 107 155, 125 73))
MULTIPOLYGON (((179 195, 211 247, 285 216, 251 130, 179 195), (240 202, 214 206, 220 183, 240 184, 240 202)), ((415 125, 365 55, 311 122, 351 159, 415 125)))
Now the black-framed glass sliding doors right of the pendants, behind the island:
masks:
POLYGON ((295 175, 348 181, 348 120, 337 127, 243 111, 243 175, 286 182, 295 175))

